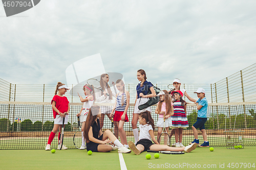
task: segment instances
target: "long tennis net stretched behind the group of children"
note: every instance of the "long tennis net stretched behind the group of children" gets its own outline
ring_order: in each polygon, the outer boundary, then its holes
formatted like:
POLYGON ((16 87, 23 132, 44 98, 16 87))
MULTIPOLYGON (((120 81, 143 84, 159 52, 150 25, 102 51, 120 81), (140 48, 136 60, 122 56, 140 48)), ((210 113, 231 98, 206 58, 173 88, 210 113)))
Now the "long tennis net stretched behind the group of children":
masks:
MULTIPOLYGON (((112 110, 113 104, 96 104, 112 110)), ((77 117, 82 103, 70 103, 69 123, 65 126, 65 139, 63 144, 69 149, 75 149, 73 136, 77 129, 77 117)), ((152 117, 155 125, 158 115, 156 106, 152 106, 152 117)), ((129 122, 124 124, 127 141, 134 141, 132 131, 134 104, 130 104, 127 111, 129 122)), ((183 130, 182 143, 187 145, 194 140, 191 126, 197 119, 195 104, 187 104, 187 118, 189 128, 183 130)), ((0 102, 0 149, 44 149, 54 125, 52 107, 50 103, 37 102, 0 102)), ((139 123, 137 123, 139 126, 139 123)), ((111 129, 111 120, 105 116, 102 131, 111 129)), ((209 104, 205 129, 210 146, 224 147, 225 131, 244 131, 244 145, 256 145, 256 102, 247 103, 218 103, 209 104)), ((155 128, 155 137, 157 137, 155 128)), ((171 129, 169 129, 170 131, 171 129)), ((199 131, 200 142, 203 142, 199 131)), ((115 131, 115 133, 118 133, 115 131)), ((174 135, 171 137, 174 143, 174 135)), ((57 134, 51 148, 57 148, 57 134)))

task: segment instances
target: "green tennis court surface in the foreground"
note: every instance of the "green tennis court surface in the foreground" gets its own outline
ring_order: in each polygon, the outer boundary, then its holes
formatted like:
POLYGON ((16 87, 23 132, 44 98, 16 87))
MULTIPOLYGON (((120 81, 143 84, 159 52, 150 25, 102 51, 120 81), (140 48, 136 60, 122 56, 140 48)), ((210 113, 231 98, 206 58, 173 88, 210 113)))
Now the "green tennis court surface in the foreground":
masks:
MULTIPOLYGON (((152 158, 149 160, 145 158, 147 152, 122 155, 127 169, 158 169, 161 164, 162 169, 255 169, 255 151, 256 147, 240 150, 214 147, 214 152, 209 148, 197 148, 183 155, 160 154, 159 159, 150 153, 152 158), (224 168, 220 168, 223 164, 224 168)), ((117 151, 88 155, 87 150, 78 149, 56 150, 54 154, 45 150, 0 150, 0 160, 0 169, 121 169, 117 151)))

